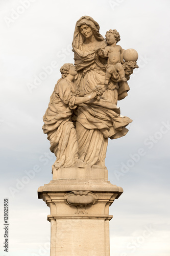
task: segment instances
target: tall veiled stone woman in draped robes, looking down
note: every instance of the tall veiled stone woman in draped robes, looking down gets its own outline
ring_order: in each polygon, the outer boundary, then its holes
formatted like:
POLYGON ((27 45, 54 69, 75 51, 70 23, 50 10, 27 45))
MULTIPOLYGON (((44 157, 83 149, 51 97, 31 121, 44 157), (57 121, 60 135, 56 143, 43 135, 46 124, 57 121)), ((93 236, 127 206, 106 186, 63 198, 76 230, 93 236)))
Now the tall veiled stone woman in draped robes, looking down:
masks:
POLYGON ((90 94, 96 86, 101 86, 105 92, 100 100, 80 104, 75 114, 79 159, 93 168, 106 168, 108 138, 125 136, 126 126, 132 120, 121 116, 116 106, 118 97, 122 99, 127 95, 127 82, 110 81, 108 87, 104 85, 106 71, 101 67, 106 60, 96 56, 96 51, 107 44, 99 29, 99 24, 89 16, 81 17, 76 23, 72 41, 78 72, 76 86, 85 94, 90 94))

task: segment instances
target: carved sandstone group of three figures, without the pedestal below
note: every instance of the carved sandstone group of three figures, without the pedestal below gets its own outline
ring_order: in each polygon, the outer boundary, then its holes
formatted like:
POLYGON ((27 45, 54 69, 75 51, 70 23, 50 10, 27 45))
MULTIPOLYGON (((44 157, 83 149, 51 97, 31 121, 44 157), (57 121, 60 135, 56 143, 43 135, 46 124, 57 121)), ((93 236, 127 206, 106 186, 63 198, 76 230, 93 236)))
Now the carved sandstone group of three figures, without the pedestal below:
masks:
POLYGON ((76 23, 75 67, 67 63, 60 69, 62 78, 43 117, 43 132, 57 157, 56 169, 77 163, 106 168, 108 138, 125 136, 132 122, 120 115, 117 100, 125 98, 130 89, 127 80, 138 67, 137 52, 116 45, 120 40, 116 30, 107 31, 105 40, 99 29, 89 16, 76 23))

